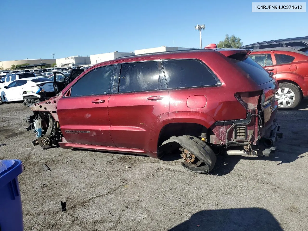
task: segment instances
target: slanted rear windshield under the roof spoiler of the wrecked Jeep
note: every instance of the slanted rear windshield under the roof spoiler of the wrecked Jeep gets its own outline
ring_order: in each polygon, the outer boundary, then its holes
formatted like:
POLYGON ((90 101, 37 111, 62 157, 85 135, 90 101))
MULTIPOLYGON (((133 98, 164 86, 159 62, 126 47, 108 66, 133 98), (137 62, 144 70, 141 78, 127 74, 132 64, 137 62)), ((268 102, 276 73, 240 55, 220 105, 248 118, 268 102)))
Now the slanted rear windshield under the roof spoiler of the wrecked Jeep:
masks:
MULTIPOLYGON (((256 62, 247 56, 234 56, 230 58, 238 67, 253 79, 258 85, 273 80, 264 68, 260 67, 256 62)), ((245 84, 245 83, 242 83, 245 84)))

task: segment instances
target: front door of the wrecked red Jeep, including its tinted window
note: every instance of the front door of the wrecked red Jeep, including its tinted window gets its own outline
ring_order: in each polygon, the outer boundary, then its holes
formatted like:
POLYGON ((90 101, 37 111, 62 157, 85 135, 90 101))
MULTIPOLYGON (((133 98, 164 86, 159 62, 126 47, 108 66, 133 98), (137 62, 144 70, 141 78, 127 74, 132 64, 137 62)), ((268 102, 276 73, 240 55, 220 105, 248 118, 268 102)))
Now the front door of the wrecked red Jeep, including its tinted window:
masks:
POLYGON ((108 101, 114 65, 83 75, 57 104, 60 129, 67 142, 115 146, 109 134, 108 101))

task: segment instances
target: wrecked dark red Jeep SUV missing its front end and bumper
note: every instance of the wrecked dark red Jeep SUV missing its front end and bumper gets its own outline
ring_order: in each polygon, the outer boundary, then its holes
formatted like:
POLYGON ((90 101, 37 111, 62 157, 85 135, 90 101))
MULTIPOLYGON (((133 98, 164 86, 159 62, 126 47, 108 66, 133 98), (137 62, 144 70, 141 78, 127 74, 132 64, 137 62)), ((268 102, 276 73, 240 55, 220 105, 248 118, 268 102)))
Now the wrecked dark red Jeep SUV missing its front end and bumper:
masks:
POLYGON ((269 156, 282 135, 278 83, 248 52, 172 51, 96 64, 31 106, 28 130, 43 148, 178 152, 184 168, 200 173, 221 152, 269 156))

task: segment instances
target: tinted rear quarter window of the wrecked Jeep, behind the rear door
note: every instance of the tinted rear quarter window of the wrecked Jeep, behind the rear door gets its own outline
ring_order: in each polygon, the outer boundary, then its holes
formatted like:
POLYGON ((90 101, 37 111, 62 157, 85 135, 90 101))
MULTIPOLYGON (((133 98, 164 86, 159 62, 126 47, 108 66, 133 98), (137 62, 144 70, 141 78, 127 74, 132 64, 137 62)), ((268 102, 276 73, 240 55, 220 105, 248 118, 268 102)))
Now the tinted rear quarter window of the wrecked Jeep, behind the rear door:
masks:
POLYGON ((195 59, 162 61, 168 88, 213 86, 212 72, 195 59))

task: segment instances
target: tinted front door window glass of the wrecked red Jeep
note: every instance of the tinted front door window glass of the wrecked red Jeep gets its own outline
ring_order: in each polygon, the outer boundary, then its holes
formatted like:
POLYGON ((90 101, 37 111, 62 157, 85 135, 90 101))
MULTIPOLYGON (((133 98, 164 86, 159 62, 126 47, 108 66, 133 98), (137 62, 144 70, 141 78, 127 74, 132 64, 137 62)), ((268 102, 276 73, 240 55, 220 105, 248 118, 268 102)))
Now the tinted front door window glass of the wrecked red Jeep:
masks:
POLYGON ((84 75, 72 86, 71 96, 107 94, 112 68, 99 67, 84 75))

